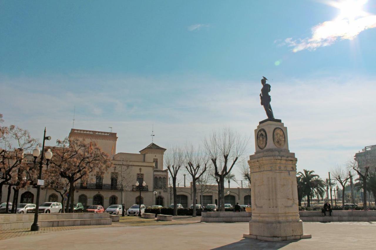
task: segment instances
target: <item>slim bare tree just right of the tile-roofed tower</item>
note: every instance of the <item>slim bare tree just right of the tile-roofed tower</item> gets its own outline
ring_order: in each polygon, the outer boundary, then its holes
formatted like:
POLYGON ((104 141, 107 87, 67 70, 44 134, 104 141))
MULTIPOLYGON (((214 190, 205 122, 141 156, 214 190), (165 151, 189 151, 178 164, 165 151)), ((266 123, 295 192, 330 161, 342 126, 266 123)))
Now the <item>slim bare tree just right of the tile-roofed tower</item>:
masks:
POLYGON ((177 146, 168 149, 164 154, 164 164, 170 172, 174 194, 174 215, 177 215, 176 179, 180 168, 184 164, 183 150, 177 146))

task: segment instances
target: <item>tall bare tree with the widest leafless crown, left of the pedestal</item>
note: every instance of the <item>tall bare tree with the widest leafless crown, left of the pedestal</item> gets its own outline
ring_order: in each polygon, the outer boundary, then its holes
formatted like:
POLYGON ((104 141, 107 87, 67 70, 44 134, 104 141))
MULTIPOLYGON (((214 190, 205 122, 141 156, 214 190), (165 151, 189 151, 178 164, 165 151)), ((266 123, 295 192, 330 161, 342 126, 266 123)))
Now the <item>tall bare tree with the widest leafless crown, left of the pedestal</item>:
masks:
POLYGON ((240 134, 223 128, 213 131, 209 138, 204 139, 205 148, 214 165, 215 176, 220 188, 220 211, 224 211, 224 178, 231 172, 237 160, 243 156, 249 139, 240 134), (221 158, 222 160, 219 160, 221 158))

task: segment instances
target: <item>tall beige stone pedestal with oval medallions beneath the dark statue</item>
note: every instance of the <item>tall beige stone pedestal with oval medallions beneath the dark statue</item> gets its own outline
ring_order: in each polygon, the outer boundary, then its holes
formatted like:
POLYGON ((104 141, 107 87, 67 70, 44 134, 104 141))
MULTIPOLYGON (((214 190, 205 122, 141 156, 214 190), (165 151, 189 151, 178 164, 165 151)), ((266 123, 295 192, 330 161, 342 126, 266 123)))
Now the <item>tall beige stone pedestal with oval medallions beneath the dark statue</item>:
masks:
POLYGON ((256 152, 249 157, 252 219, 244 237, 266 241, 311 238, 299 219, 294 153, 282 122, 262 121, 255 130, 256 152))

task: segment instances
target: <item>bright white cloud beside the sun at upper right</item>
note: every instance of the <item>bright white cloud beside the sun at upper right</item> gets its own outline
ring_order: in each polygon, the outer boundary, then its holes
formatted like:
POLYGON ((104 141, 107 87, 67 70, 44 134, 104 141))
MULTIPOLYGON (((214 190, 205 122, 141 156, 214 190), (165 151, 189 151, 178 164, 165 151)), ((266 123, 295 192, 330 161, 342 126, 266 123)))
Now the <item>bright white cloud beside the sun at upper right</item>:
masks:
MULTIPOLYGON (((362 31, 376 27, 376 15, 370 15, 367 12, 359 10, 358 12, 350 12, 348 6, 343 6, 344 2, 328 2, 328 4, 341 10, 341 14, 335 20, 325 21, 312 27, 311 37, 295 40, 287 38, 278 45, 293 47, 293 52, 302 50, 312 51, 319 47, 332 45, 342 39, 352 40, 362 31), (345 10, 346 12, 344 12, 345 10), (358 17, 359 15, 361 17, 358 17)), ((364 3, 353 3, 358 8, 361 7, 361 4, 364 3)))

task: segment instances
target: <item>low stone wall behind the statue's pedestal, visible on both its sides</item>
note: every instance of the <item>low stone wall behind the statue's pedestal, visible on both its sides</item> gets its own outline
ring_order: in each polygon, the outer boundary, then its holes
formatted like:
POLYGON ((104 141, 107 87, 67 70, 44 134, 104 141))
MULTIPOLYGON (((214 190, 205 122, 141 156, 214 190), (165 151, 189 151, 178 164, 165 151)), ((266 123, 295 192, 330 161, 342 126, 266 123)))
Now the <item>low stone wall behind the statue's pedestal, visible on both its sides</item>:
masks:
MULTIPOLYGON (((305 222, 326 221, 376 221, 376 211, 299 211, 300 220, 305 222)), ((202 222, 248 222, 252 212, 202 212, 202 222)))

